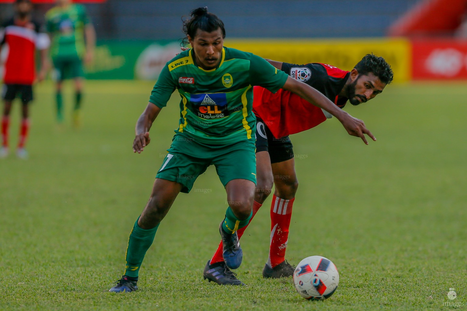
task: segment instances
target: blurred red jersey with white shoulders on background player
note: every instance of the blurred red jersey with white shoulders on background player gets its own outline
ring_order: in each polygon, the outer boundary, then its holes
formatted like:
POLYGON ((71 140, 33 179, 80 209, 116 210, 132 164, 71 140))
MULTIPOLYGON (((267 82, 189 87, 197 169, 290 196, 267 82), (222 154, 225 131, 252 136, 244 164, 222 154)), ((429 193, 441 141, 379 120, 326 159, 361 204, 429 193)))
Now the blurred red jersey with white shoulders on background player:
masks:
POLYGON ((46 34, 40 34, 40 25, 35 21, 21 22, 12 18, 2 25, 3 39, 0 45, 8 44, 3 82, 6 84, 32 84, 35 78, 35 49, 47 48, 46 34))

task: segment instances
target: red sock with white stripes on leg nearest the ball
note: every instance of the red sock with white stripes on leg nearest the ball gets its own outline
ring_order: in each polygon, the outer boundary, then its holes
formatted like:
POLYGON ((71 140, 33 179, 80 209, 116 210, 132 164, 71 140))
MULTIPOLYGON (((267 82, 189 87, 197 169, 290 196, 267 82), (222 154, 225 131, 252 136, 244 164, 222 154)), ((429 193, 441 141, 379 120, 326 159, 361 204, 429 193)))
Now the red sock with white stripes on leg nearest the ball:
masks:
POLYGON ((271 202, 271 240, 268 265, 276 267, 285 260, 285 249, 289 238, 290 216, 295 198, 284 200, 275 194, 271 202))

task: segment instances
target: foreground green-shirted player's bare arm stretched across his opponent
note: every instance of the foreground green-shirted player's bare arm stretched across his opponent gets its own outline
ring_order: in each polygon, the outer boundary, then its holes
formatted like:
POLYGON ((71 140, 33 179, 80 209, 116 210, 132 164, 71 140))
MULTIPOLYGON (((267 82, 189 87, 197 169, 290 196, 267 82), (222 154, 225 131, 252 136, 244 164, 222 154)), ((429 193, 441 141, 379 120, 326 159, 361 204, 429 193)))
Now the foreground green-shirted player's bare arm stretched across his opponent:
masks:
POLYGON ((347 112, 341 110, 327 97, 308 84, 297 81, 289 76, 283 85, 283 89, 297 94, 311 104, 314 104, 315 106, 332 114, 340 121, 340 123, 342 123, 349 135, 360 137, 365 144, 368 145, 368 141, 364 134, 367 134, 370 138, 376 140, 375 136, 373 136, 373 134, 365 127, 365 123, 363 123, 362 120, 354 118, 347 112))

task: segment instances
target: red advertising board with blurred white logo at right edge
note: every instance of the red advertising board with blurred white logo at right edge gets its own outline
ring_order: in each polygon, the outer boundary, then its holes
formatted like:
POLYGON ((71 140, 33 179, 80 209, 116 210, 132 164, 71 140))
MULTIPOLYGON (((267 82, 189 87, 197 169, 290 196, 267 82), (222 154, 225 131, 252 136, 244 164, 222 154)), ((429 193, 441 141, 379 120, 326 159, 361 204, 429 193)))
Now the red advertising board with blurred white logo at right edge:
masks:
POLYGON ((412 41, 412 79, 467 79, 467 40, 412 41))

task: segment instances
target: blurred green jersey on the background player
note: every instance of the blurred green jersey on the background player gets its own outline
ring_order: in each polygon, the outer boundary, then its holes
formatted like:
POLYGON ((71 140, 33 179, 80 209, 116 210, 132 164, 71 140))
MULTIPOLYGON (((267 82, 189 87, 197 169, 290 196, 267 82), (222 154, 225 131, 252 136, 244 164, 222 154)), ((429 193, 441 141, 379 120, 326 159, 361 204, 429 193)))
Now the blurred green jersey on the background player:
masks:
POLYGON ((45 15, 47 31, 52 37, 52 57, 79 57, 85 53, 85 26, 90 23, 85 7, 71 4, 65 9, 51 8, 45 15))

